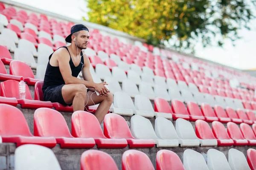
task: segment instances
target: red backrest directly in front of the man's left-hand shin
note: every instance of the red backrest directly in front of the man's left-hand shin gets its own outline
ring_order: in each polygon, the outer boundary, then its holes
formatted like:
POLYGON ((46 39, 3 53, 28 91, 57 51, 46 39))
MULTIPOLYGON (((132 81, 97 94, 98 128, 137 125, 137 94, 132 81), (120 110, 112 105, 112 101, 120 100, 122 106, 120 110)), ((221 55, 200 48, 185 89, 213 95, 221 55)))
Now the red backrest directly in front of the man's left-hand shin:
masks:
POLYGON ((105 138, 98 119, 92 113, 75 111, 71 119, 71 132, 74 137, 105 138))

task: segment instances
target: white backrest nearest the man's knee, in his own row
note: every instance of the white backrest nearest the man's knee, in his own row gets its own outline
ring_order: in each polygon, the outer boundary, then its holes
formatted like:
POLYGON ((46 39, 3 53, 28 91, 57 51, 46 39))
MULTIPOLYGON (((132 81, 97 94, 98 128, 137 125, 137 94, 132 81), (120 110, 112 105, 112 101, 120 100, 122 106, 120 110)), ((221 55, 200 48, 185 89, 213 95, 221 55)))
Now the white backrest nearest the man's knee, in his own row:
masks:
POLYGON ((128 94, 119 91, 114 94, 114 106, 116 108, 135 110, 131 97, 128 94))

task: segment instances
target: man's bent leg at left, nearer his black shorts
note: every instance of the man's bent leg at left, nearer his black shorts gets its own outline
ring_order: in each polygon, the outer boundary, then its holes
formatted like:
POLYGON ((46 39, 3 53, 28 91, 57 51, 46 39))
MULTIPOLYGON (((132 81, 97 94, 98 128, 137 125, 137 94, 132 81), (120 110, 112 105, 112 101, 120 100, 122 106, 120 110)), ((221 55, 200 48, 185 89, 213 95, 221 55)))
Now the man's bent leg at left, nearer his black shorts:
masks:
POLYGON ((87 88, 83 84, 64 85, 61 94, 67 104, 73 102, 73 111, 84 111, 87 88))

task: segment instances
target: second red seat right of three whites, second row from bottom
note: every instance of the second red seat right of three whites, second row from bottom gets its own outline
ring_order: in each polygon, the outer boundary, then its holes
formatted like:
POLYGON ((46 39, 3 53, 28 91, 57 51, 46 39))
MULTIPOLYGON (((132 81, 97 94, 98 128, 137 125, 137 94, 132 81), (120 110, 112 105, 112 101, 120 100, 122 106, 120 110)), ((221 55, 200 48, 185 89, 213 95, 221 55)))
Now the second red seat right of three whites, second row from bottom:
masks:
POLYGON ((234 144, 221 122, 212 122, 212 132, 218 141, 218 146, 232 146, 234 144))

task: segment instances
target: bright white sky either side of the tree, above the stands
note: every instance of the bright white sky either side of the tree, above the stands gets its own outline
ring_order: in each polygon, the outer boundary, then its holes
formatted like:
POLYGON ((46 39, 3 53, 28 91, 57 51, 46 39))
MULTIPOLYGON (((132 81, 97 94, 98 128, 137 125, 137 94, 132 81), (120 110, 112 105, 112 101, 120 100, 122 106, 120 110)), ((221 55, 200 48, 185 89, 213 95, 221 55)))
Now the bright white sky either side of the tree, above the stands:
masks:
MULTIPOLYGON (((13 0, 24 3, 35 8, 45 11, 61 14, 76 20, 81 17, 87 17, 84 0, 13 0), (60 7, 61 6, 61 7, 60 7)), ((198 42, 195 47, 195 56, 212 60, 230 67, 238 69, 256 68, 256 19, 250 22, 252 29, 242 29, 239 35, 242 37, 236 40, 236 46, 233 47, 229 40, 224 41, 223 48, 217 46, 209 46, 203 48, 198 42)))

